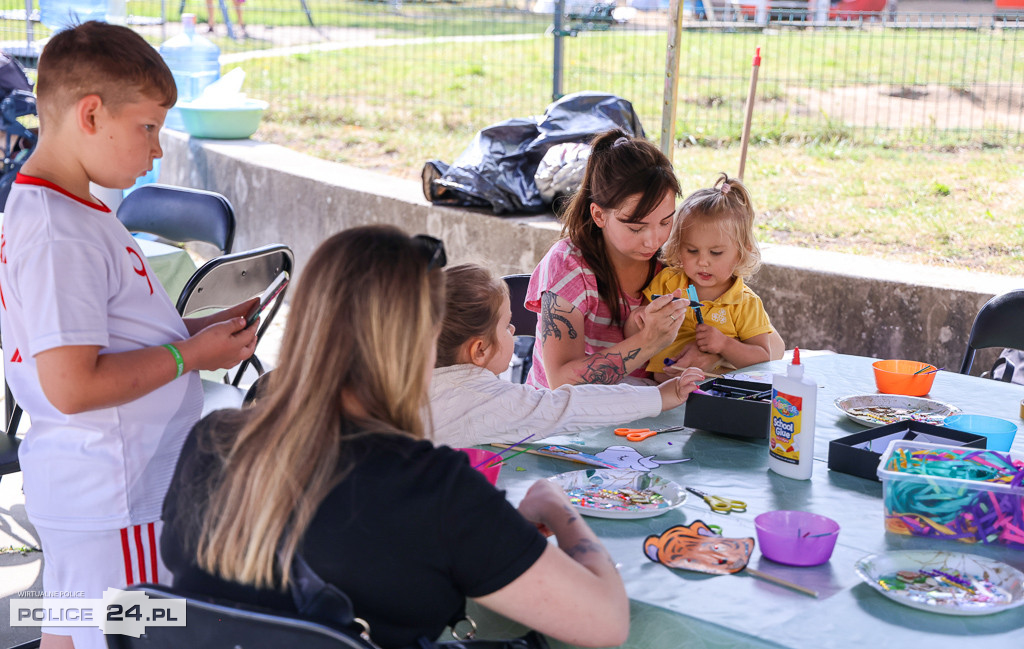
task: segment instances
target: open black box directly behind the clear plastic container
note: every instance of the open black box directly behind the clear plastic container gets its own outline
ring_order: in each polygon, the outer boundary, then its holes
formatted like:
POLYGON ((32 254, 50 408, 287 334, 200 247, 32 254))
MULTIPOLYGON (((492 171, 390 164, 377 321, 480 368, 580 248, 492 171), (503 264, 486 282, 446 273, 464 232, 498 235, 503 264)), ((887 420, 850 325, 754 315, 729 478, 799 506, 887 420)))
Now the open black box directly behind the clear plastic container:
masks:
POLYGON ((879 462, 894 439, 972 448, 985 448, 988 441, 982 435, 952 428, 922 422, 897 422, 828 442, 828 468, 879 482, 879 462))

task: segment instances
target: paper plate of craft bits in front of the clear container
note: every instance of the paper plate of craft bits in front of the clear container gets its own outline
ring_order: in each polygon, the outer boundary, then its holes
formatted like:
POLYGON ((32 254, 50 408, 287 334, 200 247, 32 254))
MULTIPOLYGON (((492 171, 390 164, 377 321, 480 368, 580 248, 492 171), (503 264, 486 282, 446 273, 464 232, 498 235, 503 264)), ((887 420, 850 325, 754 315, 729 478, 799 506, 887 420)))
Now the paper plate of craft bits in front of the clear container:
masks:
POLYGON ((894 602, 948 615, 988 615, 1024 604, 1024 572, 1001 561, 944 551, 888 552, 855 565, 894 602))

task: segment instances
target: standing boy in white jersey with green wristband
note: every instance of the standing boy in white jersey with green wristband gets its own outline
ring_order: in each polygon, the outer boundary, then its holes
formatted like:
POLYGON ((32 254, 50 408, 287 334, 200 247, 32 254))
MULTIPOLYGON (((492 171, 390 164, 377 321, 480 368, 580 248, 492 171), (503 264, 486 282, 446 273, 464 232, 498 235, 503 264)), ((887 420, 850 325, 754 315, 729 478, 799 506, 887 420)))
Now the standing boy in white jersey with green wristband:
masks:
MULTIPOLYGON (((177 93, 141 37, 105 23, 55 34, 39 58, 40 137, 0 242, 4 370, 32 419, 20 447, 43 590, 101 599, 169 582, 160 512, 202 409, 196 370, 252 355, 251 302, 182 320, 132 236, 89 192, 126 188, 162 155, 177 93)), ((73 604, 73 603, 69 603, 73 604)), ((98 628, 44 628, 44 649, 104 647, 98 628)))

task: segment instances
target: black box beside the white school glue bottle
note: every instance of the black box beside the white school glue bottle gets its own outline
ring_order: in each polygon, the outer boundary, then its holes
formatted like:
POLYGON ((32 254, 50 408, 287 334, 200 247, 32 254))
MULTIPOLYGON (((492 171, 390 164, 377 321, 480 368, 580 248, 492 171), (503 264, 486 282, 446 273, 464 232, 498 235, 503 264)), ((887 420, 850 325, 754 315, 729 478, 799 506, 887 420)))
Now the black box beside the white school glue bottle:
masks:
POLYGON ((713 396, 691 393, 686 399, 683 425, 712 433, 746 437, 768 438, 771 421, 771 384, 733 379, 712 379, 700 384, 705 392, 712 390, 730 392, 736 396, 713 396), (740 395, 760 398, 739 398, 740 395))

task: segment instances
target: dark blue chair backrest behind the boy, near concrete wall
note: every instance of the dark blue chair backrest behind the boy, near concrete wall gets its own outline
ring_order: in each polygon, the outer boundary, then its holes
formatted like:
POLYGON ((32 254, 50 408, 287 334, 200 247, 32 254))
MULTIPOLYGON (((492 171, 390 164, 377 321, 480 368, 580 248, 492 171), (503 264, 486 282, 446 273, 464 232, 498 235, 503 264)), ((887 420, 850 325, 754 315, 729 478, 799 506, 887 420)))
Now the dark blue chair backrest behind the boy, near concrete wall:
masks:
POLYGON ((156 234, 177 244, 205 242, 220 254, 234 243, 234 209, 215 191, 142 185, 121 202, 118 220, 131 232, 156 234))

